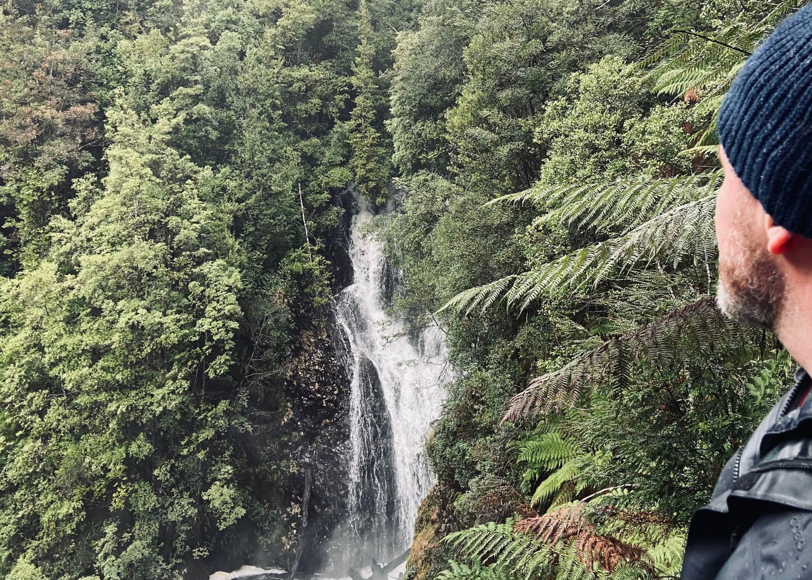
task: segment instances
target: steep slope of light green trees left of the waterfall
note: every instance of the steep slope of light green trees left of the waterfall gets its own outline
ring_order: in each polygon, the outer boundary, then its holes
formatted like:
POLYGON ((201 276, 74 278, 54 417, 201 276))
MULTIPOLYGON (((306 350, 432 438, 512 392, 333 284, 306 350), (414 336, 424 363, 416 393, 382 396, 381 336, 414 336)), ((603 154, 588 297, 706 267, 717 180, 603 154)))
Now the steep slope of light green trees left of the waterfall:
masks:
POLYGON ((304 471, 346 439, 338 198, 385 197, 378 73, 411 14, 4 4, 0 576, 294 561, 304 471))

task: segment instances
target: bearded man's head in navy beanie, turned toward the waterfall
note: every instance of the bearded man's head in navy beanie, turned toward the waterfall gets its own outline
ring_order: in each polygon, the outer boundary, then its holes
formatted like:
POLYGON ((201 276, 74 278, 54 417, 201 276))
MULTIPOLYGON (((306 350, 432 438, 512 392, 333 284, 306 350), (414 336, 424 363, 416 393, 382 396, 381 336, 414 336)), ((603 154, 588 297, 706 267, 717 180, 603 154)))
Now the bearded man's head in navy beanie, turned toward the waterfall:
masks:
POLYGON ((812 304, 812 6, 767 38, 719 112, 719 306, 775 329, 812 304))

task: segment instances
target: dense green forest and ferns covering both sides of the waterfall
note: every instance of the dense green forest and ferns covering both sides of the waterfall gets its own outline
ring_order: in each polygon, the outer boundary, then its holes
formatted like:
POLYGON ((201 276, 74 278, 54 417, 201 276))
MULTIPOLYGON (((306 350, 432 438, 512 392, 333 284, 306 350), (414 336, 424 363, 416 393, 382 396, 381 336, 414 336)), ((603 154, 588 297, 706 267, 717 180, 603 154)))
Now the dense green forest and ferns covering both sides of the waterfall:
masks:
POLYGON ((349 186, 459 370, 408 578, 677 577, 792 371, 715 308, 712 217, 802 3, 4 2, 0 577, 298 563, 349 186))

